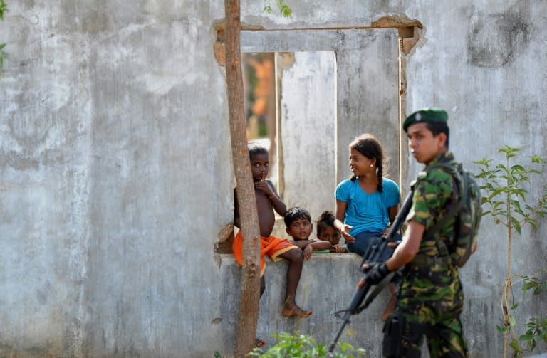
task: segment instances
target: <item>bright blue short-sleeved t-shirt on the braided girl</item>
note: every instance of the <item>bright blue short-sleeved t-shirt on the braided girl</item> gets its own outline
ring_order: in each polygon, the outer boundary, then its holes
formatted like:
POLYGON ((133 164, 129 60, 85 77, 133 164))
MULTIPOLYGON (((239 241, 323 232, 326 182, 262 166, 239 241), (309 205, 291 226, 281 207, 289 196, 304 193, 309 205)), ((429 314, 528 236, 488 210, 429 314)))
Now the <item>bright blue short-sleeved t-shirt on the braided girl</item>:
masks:
POLYGON ((336 187, 334 197, 348 203, 344 223, 353 226, 352 236, 363 231, 382 232, 390 223, 388 209, 399 204, 399 186, 387 178, 382 181, 382 193, 368 194, 357 180, 345 179, 336 187))

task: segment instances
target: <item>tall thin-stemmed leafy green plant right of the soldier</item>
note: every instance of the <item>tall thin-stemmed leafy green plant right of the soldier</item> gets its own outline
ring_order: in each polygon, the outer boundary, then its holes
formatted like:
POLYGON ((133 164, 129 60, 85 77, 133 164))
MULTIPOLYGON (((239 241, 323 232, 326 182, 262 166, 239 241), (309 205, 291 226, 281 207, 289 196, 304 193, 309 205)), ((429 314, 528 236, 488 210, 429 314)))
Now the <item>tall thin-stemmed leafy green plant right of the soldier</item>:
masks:
MULTIPOLYGON (((511 272, 511 244, 514 234, 521 234, 523 226, 530 225, 538 228, 538 219, 544 218, 547 214, 547 190, 539 196, 535 204, 529 205, 526 200, 528 191, 525 189, 527 183, 531 183, 532 175, 540 175, 538 167, 546 164, 545 159, 533 155, 529 164, 511 164, 514 158, 521 151, 520 148, 505 146, 499 149, 499 153, 505 155, 504 162, 492 164, 492 159, 481 159, 474 163, 479 164, 480 172, 476 177, 484 182, 481 186, 485 196, 482 197, 483 216, 490 215, 494 218, 496 225, 506 228, 508 240, 507 253, 507 275, 504 281, 504 290, 501 295, 501 309, 504 324, 498 326, 500 332, 504 332, 504 357, 507 357, 508 344, 514 350, 514 357, 521 357, 523 352, 531 352, 536 347, 536 338, 547 342, 547 320, 532 317, 526 323, 526 333, 516 335, 516 319, 514 313, 519 306, 514 302, 512 286, 514 278, 523 282, 523 292, 533 290, 534 295, 541 294, 546 288, 546 280, 540 276, 545 274, 547 269, 539 270, 534 275, 513 275, 511 272), (511 336, 511 342, 509 338, 511 336)), ((544 183, 543 183, 544 184, 544 183)), ((517 281, 516 281, 517 282, 517 281)), ((516 283, 515 282, 515 283, 516 283)))

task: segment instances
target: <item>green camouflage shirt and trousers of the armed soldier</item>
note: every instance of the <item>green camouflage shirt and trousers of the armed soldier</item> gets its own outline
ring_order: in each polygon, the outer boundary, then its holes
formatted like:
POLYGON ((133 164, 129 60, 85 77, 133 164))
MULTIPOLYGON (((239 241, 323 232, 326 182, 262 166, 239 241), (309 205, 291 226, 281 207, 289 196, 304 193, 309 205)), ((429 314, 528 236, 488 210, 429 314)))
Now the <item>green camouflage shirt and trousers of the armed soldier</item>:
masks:
MULTIPOLYGON (((439 162, 455 164, 452 154, 445 153, 433 159, 429 166, 439 162)), ((421 173, 407 220, 422 223, 427 232, 446 214, 452 192, 453 179, 447 172, 432 169, 427 174, 421 173)), ((446 243, 452 242, 454 219, 435 236, 446 243)), ((439 256, 435 239, 422 239, 417 256, 439 256)), ((459 320, 463 303, 462 284, 454 265, 407 264, 397 294, 397 310, 407 321, 402 336, 402 357, 420 357, 424 335, 432 358, 469 357, 459 320)))

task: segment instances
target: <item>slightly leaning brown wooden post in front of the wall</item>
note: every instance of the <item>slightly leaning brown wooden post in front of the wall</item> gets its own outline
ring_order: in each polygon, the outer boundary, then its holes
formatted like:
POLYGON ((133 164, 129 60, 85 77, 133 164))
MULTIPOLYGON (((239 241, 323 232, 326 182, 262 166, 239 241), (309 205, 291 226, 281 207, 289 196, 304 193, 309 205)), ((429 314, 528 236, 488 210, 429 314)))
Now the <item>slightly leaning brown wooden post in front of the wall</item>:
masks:
POLYGON ((239 43, 239 0, 225 0, 226 13, 226 84, 231 135, 231 154, 236 174, 237 200, 241 230, 244 233, 241 298, 235 356, 244 357, 254 347, 259 319, 260 230, 256 197, 247 151, 244 113, 241 47, 239 43))

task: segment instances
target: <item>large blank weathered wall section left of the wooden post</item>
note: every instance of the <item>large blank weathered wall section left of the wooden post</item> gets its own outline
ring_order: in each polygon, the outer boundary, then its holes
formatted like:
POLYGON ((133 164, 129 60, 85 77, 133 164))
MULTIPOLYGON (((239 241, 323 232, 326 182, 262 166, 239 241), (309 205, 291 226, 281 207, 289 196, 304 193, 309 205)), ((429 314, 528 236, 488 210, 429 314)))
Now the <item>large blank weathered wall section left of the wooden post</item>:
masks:
POLYGON ((0 355, 210 357, 233 220, 224 4, 8 4, 0 355))

